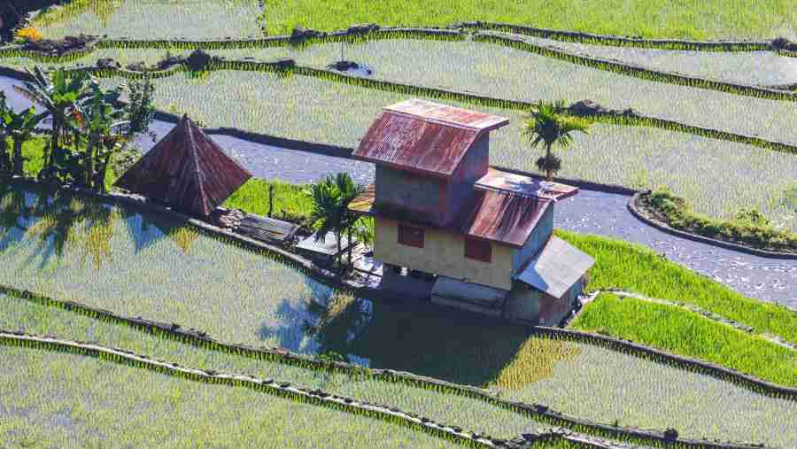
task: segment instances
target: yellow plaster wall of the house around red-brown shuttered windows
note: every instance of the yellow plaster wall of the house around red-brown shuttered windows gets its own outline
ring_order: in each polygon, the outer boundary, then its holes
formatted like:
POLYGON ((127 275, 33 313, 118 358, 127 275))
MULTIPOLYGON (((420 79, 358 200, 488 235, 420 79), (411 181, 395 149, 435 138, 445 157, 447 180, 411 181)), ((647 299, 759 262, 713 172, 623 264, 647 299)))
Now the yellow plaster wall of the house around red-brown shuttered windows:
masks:
POLYGON ((374 258, 391 265, 512 290, 512 248, 491 243, 491 263, 465 258, 464 236, 423 231, 423 248, 399 244, 397 221, 375 217, 374 258))

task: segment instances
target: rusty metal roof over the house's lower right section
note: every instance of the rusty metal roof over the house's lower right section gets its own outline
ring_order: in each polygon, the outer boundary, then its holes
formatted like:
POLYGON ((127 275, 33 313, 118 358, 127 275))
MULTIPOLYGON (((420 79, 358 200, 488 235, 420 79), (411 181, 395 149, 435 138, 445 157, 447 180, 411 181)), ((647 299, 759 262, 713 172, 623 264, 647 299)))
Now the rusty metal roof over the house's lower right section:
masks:
POLYGON ((546 212, 550 201, 497 190, 477 190, 461 231, 468 236, 521 247, 546 212))

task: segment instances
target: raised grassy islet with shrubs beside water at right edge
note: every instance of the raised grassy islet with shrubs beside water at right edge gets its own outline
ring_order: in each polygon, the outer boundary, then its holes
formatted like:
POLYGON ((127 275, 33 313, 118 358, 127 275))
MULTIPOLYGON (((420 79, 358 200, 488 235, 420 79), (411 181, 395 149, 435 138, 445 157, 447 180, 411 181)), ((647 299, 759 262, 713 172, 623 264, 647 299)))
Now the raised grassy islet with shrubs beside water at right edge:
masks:
POLYGON ((755 211, 744 211, 729 221, 718 220, 693 212, 689 201, 667 189, 640 196, 638 205, 672 228, 762 250, 797 254, 797 233, 772 228, 769 221, 755 211))

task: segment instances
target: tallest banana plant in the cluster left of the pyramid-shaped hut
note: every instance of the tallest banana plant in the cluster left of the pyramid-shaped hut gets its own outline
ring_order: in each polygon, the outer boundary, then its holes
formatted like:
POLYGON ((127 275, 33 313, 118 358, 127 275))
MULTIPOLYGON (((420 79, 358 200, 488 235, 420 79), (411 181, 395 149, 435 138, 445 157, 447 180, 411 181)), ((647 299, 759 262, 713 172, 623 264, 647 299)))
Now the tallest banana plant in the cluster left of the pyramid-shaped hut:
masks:
POLYGON ((55 174, 58 139, 66 134, 66 116, 74 108, 75 103, 87 95, 88 75, 81 72, 67 84, 63 70, 53 73, 51 80, 45 76, 39 66, 34 67, 34 72, 27 68, 26 70, 34 81, 25 81, 24 87, 14 86, 14 90, 28 100, 43 106, 46 115, 52 116, 50 152, 45 155, 43 173, 40 173, 40 178, 48 179, 55 174))

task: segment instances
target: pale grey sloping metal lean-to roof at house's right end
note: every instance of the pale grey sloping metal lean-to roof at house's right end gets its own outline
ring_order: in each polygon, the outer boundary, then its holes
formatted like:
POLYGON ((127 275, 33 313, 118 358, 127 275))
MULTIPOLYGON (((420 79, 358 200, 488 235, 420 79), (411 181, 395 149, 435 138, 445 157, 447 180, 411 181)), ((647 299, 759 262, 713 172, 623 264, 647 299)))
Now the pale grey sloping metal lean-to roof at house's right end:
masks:
POLYGON ((551 236, 545 248, 531 259, 528 267, 515 275, 515 279, 554 298, 561 298, 594 264, 595 259, 589 254, 557 236, 551 236))

